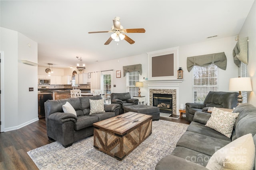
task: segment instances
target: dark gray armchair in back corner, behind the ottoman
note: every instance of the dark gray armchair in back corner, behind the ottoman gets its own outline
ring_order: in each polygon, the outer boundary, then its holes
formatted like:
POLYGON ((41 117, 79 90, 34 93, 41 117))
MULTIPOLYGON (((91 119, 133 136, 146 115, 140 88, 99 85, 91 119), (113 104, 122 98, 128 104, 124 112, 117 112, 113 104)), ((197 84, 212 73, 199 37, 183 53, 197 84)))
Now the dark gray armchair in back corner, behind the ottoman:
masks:
POLYGON ((131 98, 131 95, 129 92, 126 93, 111 93, 111 104, 119 104, 119 114, 124 113, 124 106, 131 106, 131 105, 137 105, 138 99, 131 98))

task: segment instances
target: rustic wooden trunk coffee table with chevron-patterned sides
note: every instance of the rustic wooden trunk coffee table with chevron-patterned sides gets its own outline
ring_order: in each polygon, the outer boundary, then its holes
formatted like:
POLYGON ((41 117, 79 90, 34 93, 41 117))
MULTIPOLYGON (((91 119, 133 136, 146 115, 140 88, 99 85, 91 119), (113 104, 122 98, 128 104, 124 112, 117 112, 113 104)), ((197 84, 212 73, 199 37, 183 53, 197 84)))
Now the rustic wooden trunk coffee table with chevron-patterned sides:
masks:
POLYGON ((152 133, 152 116, 126 112, 93 126, 94 148, 123 160, 152 133))

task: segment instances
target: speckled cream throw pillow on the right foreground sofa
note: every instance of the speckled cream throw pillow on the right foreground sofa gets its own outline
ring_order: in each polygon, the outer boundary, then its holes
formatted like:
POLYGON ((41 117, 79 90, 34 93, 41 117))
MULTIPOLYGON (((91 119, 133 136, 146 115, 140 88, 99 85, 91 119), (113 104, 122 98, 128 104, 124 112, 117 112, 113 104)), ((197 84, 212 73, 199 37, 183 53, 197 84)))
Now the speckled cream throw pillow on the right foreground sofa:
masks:
POLYGON ((212 128, 230 138, 238 114, 239 113, 225 112, 214 107, 212 110, 212 116, 206 122, 205 126, 212 128))

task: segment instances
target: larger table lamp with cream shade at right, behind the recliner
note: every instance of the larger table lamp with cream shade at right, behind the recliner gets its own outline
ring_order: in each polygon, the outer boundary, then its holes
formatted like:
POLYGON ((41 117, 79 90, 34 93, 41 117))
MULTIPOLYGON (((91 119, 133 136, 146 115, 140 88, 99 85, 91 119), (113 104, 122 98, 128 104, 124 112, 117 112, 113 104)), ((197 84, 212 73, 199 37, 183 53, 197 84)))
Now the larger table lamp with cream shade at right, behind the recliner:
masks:
POLYGON ((229 91, 239 91, 237 105, 242 104, 243 97, 241 91, 252 91, 252 83, 250 77, 230 78, 229 91))

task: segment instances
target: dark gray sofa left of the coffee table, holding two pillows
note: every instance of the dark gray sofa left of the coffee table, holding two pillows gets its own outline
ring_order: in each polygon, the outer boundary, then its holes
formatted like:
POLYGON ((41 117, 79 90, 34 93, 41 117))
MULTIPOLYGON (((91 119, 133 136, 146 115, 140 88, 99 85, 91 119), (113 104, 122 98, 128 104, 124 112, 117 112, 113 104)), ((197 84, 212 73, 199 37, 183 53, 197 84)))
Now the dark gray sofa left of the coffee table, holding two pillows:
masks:
POLYGON ((95 122, 105 120, 119 113, 118 104, 104 104, 104 113, 90 113, 90 101, 102 99, 101 96, 86 96, 80 98, 66 98, 60 100, 47 100, 44 103, 46 115, 47 136, 50 140, 56 140, 65 148, 73 142, 93 135, 95 122), (76 110, 76 115, 64 113, 62 105, 69 102, 76 110))

